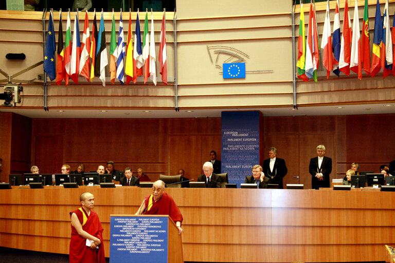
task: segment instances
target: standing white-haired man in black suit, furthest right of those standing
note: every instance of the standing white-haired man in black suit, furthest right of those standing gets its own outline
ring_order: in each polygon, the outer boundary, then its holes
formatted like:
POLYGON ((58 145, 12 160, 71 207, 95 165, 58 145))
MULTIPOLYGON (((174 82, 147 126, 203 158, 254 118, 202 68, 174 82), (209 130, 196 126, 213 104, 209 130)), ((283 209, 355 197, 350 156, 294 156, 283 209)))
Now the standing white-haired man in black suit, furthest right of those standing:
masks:
POLYGON ((330 187, 329 175, 332 172, 332 159, 325 155, 325 146, 317 146, 317 157, 311 158, 309 172, 311 174, 312 189, 330 187))

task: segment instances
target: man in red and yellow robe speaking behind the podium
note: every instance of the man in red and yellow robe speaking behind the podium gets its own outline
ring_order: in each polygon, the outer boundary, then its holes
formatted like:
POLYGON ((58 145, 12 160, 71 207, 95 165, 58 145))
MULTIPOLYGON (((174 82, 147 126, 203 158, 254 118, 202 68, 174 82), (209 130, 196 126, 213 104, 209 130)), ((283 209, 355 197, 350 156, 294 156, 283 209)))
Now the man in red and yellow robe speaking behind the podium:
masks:
POLYGON ((161 180, 154 182, 152 185, 152 195, 144 198, 136 215, 169 215, 177 225, 178 233, 181 234, 183 232, 181 228, 183 215, 173 198, 164 192, 165 182, 161 180))

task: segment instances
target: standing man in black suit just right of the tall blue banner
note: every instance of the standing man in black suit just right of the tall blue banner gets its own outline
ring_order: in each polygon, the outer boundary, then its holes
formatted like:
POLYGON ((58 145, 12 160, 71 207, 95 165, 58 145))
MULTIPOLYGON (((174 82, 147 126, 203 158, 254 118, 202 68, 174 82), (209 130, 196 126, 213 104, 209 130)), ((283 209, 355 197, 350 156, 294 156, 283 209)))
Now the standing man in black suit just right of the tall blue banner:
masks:
POLYGON ((263 173, 270 179, 270 183, 278 184, 279 189, 283 189, 282 178, 288 173, 284 159, 277 158, 277 149, 269 148, 267 152, 269 158, 263 161, 263 173))

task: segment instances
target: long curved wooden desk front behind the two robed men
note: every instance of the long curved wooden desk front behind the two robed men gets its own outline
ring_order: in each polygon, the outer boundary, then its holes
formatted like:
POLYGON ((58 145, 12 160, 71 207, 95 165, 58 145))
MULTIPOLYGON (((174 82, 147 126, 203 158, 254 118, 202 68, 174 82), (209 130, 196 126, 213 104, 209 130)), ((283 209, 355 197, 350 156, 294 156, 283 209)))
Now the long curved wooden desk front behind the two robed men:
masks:
MULTIPOLYGON (((69 212, 95 195, 109 256, 110 214, 134 214, 151 189, 0 190, 0 246, 68 254, 69 212)), ((184 216, 185 261, 386 260, 395 193, 281 189, 166 189, 184 216), (259 253, 256 253, 259 251, 259 253)))

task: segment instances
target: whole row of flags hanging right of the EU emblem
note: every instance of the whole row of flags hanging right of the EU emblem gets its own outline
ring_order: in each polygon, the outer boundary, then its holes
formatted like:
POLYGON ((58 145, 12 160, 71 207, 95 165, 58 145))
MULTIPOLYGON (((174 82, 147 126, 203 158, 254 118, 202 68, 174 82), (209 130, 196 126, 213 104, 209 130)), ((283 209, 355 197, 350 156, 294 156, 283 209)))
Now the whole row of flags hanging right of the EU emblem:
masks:
POLYGON ((353 25, 348 12, 348 2, 345 1, 343 30, 340 37, 339 0, 336 0, 334 13, 333 31, 331 30, 331 18, 329 0, 325 13, 324 29, 322 32, 321 45, 317 33, 317 21, 315 5, 311 1, 308 32, 304 27, 303 4, 300 4, 300 23, 298 37, 298 61, 297 76, 303 81, 313 79, 317 82, 317 68, 319 64, 319 48, 323 50, 322 65, 326 68, 327 79, 330 71, 337 76, 343 72, 347 76, 350 70, 358 74, 362 79, 362 69, 367 76, 374 77, 383 68, 383 77, 392 74, 395 76, 395 15, 392 23, 392 36, 390 30, 388 0, 386 0, 383 17, 381 16, 380 3, 377 0, 373 31, 373 47, 370 63, 370 34, 368 0, 365 0, 364 18, 362 22, 362 35, 360 30, 360 18, 358 17, 358 1, 355 0, 353 25))

